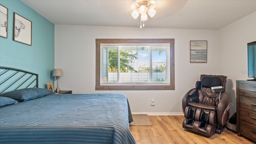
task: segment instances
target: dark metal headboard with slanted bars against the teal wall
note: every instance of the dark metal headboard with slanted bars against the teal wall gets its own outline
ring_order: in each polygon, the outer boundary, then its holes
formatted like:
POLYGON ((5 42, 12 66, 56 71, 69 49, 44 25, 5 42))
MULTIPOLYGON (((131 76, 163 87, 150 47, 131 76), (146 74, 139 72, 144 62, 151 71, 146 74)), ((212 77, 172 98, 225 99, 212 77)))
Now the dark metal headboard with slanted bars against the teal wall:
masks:
POLYGON ((38 74, 0 66, 0 94, 22 88, 38 88, 38 74))

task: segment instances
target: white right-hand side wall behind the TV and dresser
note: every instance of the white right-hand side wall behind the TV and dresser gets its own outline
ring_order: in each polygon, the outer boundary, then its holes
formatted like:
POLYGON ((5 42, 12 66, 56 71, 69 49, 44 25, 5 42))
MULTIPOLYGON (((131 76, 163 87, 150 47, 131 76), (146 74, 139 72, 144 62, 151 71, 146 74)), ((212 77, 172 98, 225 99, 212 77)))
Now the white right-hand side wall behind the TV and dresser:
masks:
POLYGON ((236 112, 236 80, 247 80, 247 43, 256 41, 256 12, 218 30, 219 74, 228 76, 231 114, 236 112))

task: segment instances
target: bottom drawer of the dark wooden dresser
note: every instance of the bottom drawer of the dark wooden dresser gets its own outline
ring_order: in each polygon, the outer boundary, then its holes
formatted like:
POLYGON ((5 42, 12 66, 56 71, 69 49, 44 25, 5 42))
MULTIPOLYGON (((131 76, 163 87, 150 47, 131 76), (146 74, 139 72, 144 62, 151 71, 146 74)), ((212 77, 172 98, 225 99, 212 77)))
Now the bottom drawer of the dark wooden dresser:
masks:
POLYGON ((256 125, 240 120, 239 130, 242 134, 244 133, 256 140, 256 125))

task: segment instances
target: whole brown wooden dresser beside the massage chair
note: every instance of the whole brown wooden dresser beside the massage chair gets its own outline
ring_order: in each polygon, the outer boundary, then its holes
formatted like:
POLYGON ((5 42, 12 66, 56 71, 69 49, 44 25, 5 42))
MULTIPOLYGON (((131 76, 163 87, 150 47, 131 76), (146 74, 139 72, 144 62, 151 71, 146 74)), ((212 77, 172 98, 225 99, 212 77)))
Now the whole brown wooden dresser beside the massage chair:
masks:
POLYGON ((256 81, 236 81, 236 130, 256 142, 256 81))

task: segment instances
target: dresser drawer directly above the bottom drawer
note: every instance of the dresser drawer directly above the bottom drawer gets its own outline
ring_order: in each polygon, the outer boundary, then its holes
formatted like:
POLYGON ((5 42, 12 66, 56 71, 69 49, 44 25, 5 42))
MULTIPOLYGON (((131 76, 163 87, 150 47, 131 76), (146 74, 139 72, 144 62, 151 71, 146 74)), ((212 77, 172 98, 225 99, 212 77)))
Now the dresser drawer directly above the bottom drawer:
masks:
POLYGON ((251 124, 256 124, 256 112, 245 108, 239 109, 239 118, 251 124))

